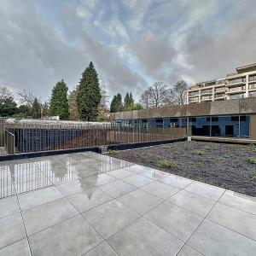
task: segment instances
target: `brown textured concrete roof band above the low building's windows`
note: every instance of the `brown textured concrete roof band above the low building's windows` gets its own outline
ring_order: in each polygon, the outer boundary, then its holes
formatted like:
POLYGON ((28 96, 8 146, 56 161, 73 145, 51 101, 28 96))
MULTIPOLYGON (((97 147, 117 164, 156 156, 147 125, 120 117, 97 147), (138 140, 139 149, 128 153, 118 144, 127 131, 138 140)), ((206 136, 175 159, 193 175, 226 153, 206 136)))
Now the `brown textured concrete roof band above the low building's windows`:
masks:
POLYGON ((256 113, 256 97, 111 113, 110 120, 256 113))

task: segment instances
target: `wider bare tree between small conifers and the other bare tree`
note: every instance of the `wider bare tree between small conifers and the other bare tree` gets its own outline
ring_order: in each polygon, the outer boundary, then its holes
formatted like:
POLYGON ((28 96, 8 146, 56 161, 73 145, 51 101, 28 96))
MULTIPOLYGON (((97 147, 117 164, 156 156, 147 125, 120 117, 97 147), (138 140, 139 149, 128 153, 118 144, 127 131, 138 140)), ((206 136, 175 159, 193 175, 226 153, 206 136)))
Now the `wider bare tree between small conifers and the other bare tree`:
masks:
POLYGON ((164 82, 156 82, 143 92, 140 102, 144 108, 160 108, 171 104, 171 90, 164 82))

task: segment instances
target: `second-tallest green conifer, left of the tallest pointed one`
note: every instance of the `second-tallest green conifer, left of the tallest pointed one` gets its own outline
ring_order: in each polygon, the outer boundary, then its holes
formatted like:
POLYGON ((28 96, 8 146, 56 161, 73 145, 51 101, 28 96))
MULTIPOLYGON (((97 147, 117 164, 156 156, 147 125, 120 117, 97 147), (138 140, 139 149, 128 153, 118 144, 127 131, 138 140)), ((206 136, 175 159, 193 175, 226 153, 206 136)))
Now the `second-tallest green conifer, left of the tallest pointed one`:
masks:
POLYGON ((67 84, 61 79, 55 84, 51 92, 49 113, 51 115, 59 115, 60 119, 68 119, 67 90, 67 84))

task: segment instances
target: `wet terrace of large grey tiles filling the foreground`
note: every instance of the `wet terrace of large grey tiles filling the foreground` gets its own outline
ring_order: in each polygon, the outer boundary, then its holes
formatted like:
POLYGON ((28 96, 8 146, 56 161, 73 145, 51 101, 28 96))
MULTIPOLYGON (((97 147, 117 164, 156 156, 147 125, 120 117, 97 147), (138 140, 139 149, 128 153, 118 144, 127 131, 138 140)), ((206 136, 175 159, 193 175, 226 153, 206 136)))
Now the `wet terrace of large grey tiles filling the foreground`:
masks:
POLYGON ((243 195, 91 152, 0 164, 0 255, 256 253, 243 195))

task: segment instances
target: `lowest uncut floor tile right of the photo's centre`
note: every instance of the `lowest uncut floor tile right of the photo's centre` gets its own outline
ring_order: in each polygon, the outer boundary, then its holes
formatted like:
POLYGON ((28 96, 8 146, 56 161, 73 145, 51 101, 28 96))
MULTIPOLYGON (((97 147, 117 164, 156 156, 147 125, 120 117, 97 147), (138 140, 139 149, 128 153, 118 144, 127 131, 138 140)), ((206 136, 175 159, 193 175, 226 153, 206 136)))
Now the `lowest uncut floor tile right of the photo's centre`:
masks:
POLYGON ((203 218, 181 207, 164 202, 145 215, 154 224, 182 241, 187 241, 203 218))

